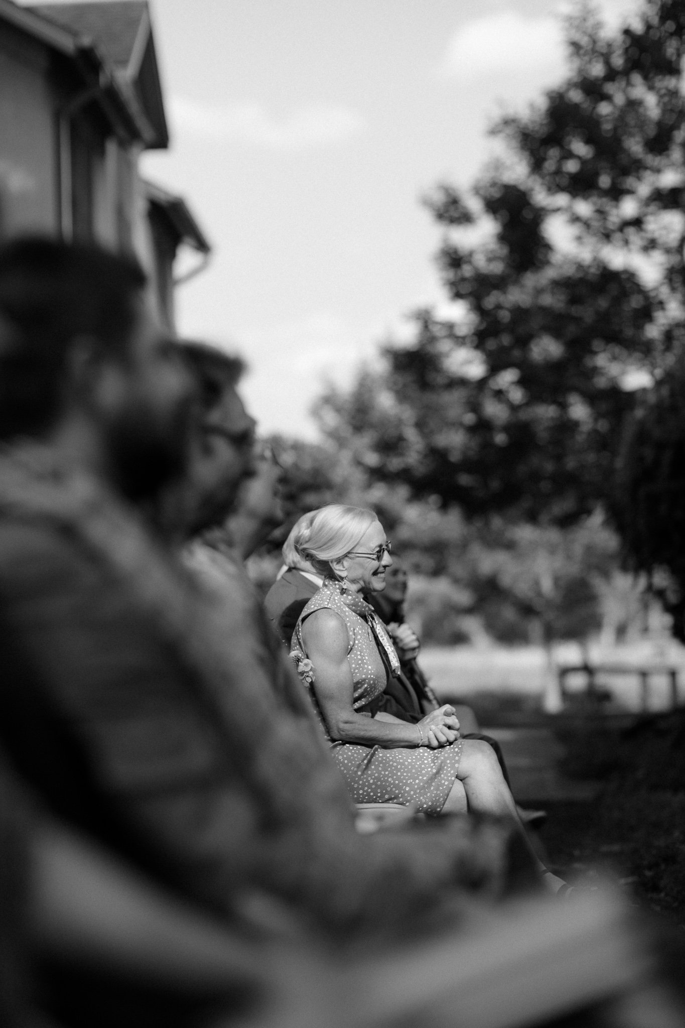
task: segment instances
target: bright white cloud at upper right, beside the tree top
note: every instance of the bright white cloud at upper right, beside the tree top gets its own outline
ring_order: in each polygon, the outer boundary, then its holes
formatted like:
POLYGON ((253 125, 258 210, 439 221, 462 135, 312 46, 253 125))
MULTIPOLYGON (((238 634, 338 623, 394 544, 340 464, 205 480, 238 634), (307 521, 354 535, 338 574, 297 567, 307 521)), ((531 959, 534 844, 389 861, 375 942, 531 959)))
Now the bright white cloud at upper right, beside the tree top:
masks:
POLYGON ((457 29, 439 74, 464 81, 501 73, 561 69, 563 65, 563 29, 559 19, 526 17, 513 10, 502 10, 457 29))

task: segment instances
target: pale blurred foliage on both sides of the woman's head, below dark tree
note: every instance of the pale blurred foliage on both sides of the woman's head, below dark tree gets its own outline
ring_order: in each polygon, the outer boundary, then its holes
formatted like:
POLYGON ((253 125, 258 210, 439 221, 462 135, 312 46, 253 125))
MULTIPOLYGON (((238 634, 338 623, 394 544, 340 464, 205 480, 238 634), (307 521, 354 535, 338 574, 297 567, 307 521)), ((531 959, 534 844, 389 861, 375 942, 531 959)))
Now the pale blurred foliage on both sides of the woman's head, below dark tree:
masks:
POLYGON ((600 634, 611 644, 640 619, 639 590, 618 570, 618 540, 599 514, 567 526, 466 518, 457 506, 364 472, 348 446, 271 442, 286 468, 288 520, 253 561, 264 590, 297 517, 349 503, 376 511, 411 571, 409 615, 427 642, 547 644, 600 634))

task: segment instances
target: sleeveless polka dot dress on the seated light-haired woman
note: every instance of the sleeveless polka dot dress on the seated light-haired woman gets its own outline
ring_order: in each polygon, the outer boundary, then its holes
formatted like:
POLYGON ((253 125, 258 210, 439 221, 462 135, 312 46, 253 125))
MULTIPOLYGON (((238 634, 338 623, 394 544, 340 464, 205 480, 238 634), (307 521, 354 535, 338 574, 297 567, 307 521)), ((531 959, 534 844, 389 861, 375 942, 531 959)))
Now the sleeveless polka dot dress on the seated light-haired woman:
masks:
MULTIPOLYGON (((293 635, 292 656, 296 663, 298 658, 306 658, 302 645, 302 622, 314 611, 324 608, 335 611, 347 627, 347 660, 354 683, 352 706, 365 712, 365 707, 384 691, 387 674, 368 622, 345 604, 338 583, 327 579, 303 610, 293 635)), ((313 668, 314 676, 315 672, 313 668)), ((440 813, 457 775, 462 739, 442 749, 425 746, 390 749, 380 745, 334 742, 328 735, 313 688, 306 678, 305 684, 331 743, 333 757, 355 803, 414 804, 421 813, 440 813)))

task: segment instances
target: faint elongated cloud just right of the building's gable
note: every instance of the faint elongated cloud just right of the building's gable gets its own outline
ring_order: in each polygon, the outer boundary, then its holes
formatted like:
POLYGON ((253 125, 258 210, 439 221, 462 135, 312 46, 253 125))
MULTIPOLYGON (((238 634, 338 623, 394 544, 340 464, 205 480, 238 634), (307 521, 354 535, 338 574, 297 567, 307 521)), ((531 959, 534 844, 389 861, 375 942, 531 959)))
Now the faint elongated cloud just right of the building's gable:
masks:
POLYGON ((311 104, 282 118, 261 104, 199 104, 172 97, 172 123, 180 133, 235 141, 267 150, 303 150, 342 143, 364 128, 364 118, 347 107, 311 104))

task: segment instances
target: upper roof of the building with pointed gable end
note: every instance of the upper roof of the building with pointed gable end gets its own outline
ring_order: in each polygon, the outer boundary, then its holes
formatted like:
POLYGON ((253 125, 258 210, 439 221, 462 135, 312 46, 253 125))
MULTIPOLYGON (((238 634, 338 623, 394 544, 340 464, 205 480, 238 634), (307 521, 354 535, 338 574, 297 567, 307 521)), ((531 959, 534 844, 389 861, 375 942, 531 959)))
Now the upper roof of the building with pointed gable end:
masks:
POLYGON ((168 146, 168 128, 147 0, 35 4, 23 8, 90 46, 117 82, 148 149, 168 146))

